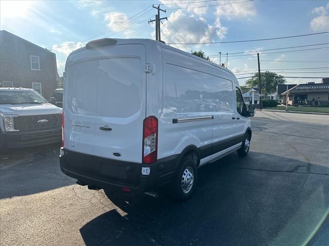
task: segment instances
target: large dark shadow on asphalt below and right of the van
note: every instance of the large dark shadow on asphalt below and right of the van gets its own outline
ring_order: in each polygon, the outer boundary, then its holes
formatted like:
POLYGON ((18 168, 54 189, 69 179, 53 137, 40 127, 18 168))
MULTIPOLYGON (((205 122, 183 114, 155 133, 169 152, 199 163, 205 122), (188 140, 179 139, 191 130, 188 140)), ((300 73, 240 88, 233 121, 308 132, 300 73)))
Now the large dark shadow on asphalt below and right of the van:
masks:
MULTIPOLYGON (((86 245, 302 245, 329 208, 329 170, 317 166, 313 173, 315 166, 234 153, 198 169, 190 200, 143 196, 121 207, 126 216, 109 211, 80 233, 86 245)), ((329 245, 327 237, 319 240, 329 245)))

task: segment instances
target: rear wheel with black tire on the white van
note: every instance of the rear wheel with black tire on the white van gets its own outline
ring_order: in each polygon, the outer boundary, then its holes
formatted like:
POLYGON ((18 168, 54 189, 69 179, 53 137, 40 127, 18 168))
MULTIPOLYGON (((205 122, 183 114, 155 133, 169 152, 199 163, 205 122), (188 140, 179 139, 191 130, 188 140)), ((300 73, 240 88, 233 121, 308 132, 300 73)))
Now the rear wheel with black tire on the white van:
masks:
POLYGON ((189 158, 189 156, 182 158, 173 180, 173 198, 178 201, 189 199, 195 190, 196 180, 197 170, 195 161, 189 158))

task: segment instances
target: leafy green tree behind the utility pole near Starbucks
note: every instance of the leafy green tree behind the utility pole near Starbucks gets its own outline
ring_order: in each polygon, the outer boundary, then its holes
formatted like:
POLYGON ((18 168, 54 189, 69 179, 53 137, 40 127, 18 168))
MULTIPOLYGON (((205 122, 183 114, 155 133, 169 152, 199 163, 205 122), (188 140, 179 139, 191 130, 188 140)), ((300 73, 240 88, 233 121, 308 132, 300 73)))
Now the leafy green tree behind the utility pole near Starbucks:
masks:
MULTIPOLYGON (((265 73, 261 72, 261 86, 262 86, 262 93, 265 95, 275 92, 277 90, 277 86, 280 84, 285 84, 286 79, 281 75, 276 73, 268 72, 265 73)), ((258 73, 255 73, 251 78, 249 78, 246 83, 246 87, 259 87, 259 78, 258 73)))

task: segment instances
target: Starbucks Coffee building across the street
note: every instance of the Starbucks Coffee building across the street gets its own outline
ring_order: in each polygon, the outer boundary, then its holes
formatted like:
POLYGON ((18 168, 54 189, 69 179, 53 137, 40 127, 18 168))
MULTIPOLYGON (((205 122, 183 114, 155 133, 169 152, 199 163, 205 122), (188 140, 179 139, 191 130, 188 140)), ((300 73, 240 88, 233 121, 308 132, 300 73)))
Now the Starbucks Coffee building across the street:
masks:
MULTIPOLYGON (((281 95, 283 104, 286 104, 287 91, 285 90, 281 95)), ((288 105, 329 105, 329 79, 323 78, 322 83, 310 82, 288 89, 288 105)))

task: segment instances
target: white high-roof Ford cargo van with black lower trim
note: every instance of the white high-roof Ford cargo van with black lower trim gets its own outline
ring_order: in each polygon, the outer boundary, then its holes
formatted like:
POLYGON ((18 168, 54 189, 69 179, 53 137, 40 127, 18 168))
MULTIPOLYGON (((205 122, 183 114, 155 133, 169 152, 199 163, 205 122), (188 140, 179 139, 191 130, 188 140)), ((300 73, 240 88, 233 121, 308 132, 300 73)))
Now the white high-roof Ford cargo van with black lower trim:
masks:
POLYGON ((251 129, 228 69, 150 39, 104 38, 66 61, 62 171, 90 189, 185 200, 197 168, 249 151, 251 129))

